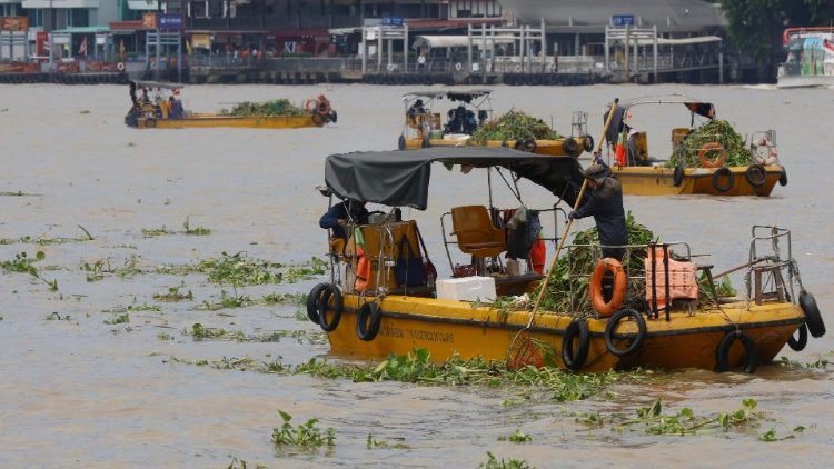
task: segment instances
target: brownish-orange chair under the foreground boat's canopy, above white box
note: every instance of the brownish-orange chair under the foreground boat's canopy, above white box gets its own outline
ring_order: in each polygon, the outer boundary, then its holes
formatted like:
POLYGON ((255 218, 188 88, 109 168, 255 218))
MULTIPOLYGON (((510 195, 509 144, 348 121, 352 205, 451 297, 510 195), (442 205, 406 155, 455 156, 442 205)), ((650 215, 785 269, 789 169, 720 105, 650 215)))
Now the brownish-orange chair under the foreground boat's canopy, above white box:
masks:
POLYGON ((455 207, 451 227, 461 251, 475 258, 496 257, 506 250, 504 230, 495 228, 484 206, 455 207))

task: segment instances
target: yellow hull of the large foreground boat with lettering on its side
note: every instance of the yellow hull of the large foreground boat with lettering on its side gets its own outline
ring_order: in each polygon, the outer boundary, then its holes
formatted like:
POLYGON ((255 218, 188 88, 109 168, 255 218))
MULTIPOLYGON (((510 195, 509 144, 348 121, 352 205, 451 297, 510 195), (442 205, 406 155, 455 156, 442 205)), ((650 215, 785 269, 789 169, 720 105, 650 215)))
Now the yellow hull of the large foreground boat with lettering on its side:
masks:
MULTIPOLYGON (((547 355, 543 352, 543 347, 528 347, 535 341, 544 345, 545 350, 553 351, 556 365, 565 367, 560 351, 565 329, 570 323, 569 317, 539 315, 533 326, 523 331, 529 320, 528 311, 499 311, 464 301, 389 296, 379 303, 383 310, 379 333, 373 340, 364 341, 356 332, 359 306, 358 296, 344 297, 341 319, 338 327, 328 333, 331 355, 379 358, 426 348, 435 361, 458 355, 487 360, 525 357, 525 363, 543 365, 547 355), (517 336, 518 339, 515 339, 517 336), (513 351, 508 352, 510 348, 513 351)), ((605 371, 633 367, 714 369, 718 343, 736 327, 753 339, 759 360, 768 362, 804 321, 802 309, 793 303, 752 305, 748 309, 746 302, 739 302, 725 305, 722 310, 694 316, 673 312, 669 321, 663 316, 659 320, 648 320, 643 345, 635 353, 623 358, 608 352, 605 346, 607 320, 589 319, 589 352, 580 370, 605 371)), ((617 333, 636 333, 636 325, 623 321, 617 333)), ((729 366, 741 366, 743 360, 744 350, 736 341, 729 351, 729 366)))

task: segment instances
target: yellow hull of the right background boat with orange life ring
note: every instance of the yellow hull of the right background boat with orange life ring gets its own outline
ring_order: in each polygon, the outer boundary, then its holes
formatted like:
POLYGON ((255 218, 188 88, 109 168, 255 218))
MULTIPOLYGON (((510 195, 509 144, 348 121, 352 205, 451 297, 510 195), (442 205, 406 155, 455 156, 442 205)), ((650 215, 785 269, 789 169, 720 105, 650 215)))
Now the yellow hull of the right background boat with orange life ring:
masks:
POLYGON ((761 187, 752 186, 745 178, 748 167, 729 167, 733 184, 725 191, 713 184, 714 168, 689 168, 684 170, 679 186, 674 184, 673 168, 662 167, 612 167, 619 180, 623 193, 628 196, 758 196, 770 197, 773 188, 783 178, 785 169, 778 164, 766 166, 767 177, 761 187))

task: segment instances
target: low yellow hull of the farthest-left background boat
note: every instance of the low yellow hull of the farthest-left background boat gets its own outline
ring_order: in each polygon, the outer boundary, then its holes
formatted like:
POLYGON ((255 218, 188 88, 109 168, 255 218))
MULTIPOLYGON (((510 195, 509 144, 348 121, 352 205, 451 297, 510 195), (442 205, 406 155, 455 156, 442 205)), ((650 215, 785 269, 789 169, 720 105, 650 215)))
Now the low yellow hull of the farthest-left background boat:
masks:
POLYGON ((201 129, 217 127, 237 127, 248 129, 301 129, 306 127, 321 127, 312 117, 307 116, 275 116, 275 117, 235 117, 218 114, 196 114, 183 119, 137 119, 139 129, 201 129))

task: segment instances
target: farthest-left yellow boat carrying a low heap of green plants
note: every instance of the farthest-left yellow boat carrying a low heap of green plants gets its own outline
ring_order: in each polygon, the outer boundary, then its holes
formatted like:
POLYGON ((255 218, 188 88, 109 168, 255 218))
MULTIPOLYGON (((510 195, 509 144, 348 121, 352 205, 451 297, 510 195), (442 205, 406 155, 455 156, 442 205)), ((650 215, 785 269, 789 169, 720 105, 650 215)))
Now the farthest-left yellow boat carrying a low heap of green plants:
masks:
POLYGON ((156 81, 131 81, 130 99, 132 106, 125 117, 125 123, 138 129, 190 129, 235 127, 250 129, 300 129, 322 127, 336 122, 338 116, 325 96, 307 100, 305 113, 300 116, 230 116, 215 113, 196 113, 182 109, 179 99, 180 83, 161 83, 156 81), (146 94, 137 97, 137 90, 156 90, 160 94, 159 103, 150 102, 146 94), (162 99, 162 90, 170 97, 162 99))

